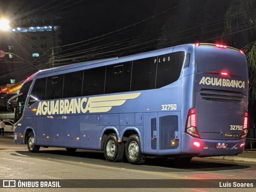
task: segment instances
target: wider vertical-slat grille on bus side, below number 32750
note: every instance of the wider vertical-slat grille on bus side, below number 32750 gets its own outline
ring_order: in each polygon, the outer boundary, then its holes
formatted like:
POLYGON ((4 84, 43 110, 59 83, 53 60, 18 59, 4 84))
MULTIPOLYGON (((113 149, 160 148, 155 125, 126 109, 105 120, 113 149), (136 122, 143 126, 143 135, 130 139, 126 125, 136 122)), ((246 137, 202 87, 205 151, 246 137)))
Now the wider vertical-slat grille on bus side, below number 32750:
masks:
POLYGON ((178 140, 172 144, 175 138, 175 132, 178 131, 178 115, 167 115, 159 117, 159 143, 160 150, 178 148, 178 140))

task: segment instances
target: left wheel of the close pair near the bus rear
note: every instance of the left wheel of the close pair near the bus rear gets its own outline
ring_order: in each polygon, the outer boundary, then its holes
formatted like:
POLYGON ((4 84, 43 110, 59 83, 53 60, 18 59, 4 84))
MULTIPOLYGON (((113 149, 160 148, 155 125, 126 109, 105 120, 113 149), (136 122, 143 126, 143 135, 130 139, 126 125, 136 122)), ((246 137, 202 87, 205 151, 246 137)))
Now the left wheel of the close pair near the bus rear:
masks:
POLYGON ((109 134, 103 146, 104 156, 110 162, 116 161, 118 156, 118 142, 115 134, 109 134))

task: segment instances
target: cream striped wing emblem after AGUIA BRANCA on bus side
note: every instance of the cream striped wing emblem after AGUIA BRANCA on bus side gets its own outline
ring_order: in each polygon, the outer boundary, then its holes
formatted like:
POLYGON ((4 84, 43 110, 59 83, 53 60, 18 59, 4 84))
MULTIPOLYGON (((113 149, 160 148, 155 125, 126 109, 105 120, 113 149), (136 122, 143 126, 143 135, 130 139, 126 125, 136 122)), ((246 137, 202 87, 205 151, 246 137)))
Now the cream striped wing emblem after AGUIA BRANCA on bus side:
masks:
POLYGON ((120 95, 108 95, 99 97, 90 97, 87 101, 86 111, 89 113, 108 112, 114 106, 123 105, 128 99, 136 99, 141 93, 128 93, 120 95))

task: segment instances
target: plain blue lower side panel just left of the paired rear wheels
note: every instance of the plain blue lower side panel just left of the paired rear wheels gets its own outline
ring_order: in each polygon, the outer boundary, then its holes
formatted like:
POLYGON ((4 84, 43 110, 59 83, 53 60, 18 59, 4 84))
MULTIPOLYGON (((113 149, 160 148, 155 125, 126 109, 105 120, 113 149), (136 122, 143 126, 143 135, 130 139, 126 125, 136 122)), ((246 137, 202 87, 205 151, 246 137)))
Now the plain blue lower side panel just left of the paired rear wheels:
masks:
POLYGON ((80 115, 81 148, 99 149, 100 136, 97 131, 97 115, 80 115))

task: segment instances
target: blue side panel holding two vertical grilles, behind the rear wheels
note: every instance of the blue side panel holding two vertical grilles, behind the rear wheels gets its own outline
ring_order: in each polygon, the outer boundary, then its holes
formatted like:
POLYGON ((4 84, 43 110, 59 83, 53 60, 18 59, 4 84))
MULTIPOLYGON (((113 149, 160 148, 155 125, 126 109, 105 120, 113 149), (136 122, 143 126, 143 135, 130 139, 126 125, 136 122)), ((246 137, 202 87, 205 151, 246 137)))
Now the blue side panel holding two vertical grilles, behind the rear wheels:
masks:
POLYGON ((143 114, 144 153, 178 154, 180 148, 180 112, 143 114))

